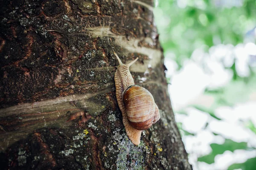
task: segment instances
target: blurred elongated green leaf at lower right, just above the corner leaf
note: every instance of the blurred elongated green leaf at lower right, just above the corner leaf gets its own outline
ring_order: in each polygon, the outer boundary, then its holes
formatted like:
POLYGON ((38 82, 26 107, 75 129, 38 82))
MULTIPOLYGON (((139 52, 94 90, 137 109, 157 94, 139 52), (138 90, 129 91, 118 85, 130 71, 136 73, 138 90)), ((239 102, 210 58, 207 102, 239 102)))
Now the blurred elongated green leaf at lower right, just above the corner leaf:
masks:
POLYGON ((224 144, 210 144, 210 147, 212 148, 212 153, 198 158, 198 161, 212 164, 214 163, 215 156, 224 153, 226 150, 233 152, 236 149, 248 149, 246 142, 237 143, 230 139, 226 139, 224 144))

